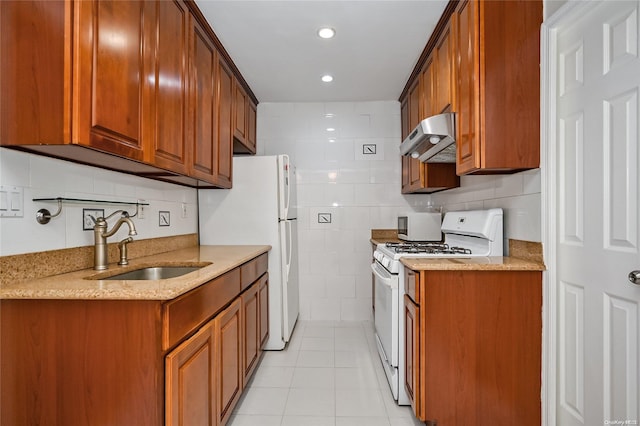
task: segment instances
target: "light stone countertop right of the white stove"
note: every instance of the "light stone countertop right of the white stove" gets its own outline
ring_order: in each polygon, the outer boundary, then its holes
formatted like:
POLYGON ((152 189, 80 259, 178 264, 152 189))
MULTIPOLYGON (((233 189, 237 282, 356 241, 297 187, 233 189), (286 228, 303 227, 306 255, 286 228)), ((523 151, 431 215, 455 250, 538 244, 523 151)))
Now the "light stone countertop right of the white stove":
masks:
POLYGON ((544 271, 544 265, 516 257, 410 258, 400 259, 414 271, 544 271))

